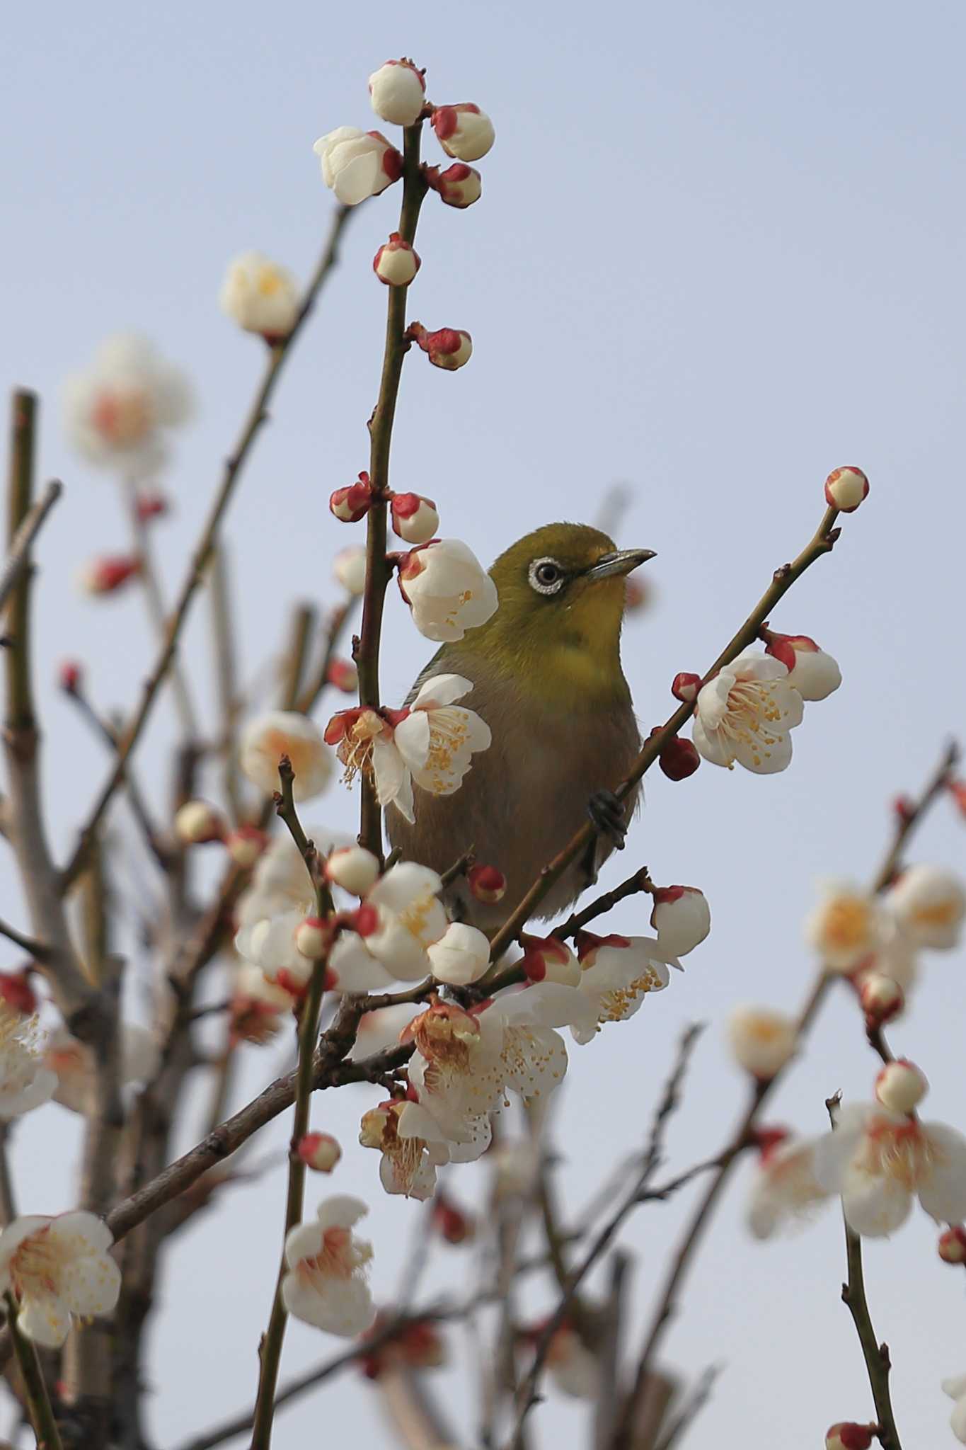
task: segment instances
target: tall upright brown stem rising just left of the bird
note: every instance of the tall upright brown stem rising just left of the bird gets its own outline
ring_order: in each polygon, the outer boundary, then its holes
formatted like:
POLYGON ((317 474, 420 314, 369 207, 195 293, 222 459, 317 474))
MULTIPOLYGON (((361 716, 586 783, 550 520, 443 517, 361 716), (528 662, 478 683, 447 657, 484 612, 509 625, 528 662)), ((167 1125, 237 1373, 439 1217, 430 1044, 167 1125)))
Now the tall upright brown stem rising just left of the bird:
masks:
MULTIPOLYGON (((420 142, 423 123, 404 130, 403 202, 400 207, 398 232, 404 242, 416 239, 420 206, 427 191, 426 177, 420 167, 420 142)), ((390 447, 392 442, 392 420, 400 393, 403 358, 408 351, 406 339, 406 299, 408 287, 387 287, 385 349, 382 354, 382 377, 379 397, 369 419, 369 481, 375 502, 366 519, 365 541, 365 594, 362 599, 362 628, 355 661, 359 667, 359 703, 379 705, 379 639, 382 635, 382 606, 385 589, 392 577, 385 557, 387 539, 387 490, 390 487, 390 447)), ((375 798, 375 784, 362 777, 362 816, 359 842, 382 860, 382 811, 375 798)))

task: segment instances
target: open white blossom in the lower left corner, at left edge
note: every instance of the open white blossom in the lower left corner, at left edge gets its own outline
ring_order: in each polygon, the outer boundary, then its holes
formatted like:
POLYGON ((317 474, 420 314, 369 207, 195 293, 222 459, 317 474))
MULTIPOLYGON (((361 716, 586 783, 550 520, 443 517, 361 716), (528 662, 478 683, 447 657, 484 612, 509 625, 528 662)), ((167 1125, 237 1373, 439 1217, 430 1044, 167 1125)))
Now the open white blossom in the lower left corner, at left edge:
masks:
POLYGON ((113 1241, 103 1219, 83 1211, 14 1218, 0 1234, 0 1293, 13 1293, 20 1333, 59 1348, 74 1318, 110 1314, 120 1293, 113 1241))

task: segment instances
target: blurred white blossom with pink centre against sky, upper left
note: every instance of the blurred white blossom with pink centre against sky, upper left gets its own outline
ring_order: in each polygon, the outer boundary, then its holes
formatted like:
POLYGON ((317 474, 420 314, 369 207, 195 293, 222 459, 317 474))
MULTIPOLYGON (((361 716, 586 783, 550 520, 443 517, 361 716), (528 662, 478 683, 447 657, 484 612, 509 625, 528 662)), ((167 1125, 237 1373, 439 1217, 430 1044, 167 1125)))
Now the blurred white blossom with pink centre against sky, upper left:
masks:
POLYGON ((117 335, 64 387, 64 426, 88 463, 126 477, 154 471, 165 457, 167 431, 191 416, 184 374, 145 338, 117 335))

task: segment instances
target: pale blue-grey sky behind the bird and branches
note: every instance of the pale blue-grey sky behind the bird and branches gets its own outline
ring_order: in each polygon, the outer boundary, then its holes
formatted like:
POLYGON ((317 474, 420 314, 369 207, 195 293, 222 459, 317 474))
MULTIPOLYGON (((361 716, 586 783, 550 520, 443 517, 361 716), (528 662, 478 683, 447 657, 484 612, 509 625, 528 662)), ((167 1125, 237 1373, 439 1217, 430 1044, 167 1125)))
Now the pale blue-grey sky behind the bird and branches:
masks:
MULTIPOLYGON (((81 563, 123 550, 127 536, 114 484, 65 445, 62 380, 107 334, 130 328, 190 373, 197 416, 177 438, 165 480, 175 513, 156 534, 171 596, 262 367, 259 342, 219 313, 223 268, 259 248, 308 276, 333 206, 311 145, 337 125, 374 123, 365 83, 388 55, 413 55, 433 100, 475 100, 497 128, 479 167, 482 200, 456 212, 430 196, 423 210, 411 313, 466 328, 475 351, 453 376, 420 355, 407 361, 392 483, 434 497, 442 532, 488 563, 550 519, 592 521, 605 490, 626 481, 618 542, 658 551, 655 608, 624 638, 644 728, 669 713, 673 674, 707 668, 772 570, 811 535, 830 468, 857 464, 872 480, 834 555, 773 621, 818 638, 844 674, 836 696, 807 708, 791 768, 756 779, 704 766, 679 786, 655 773, 629 850, 605 876, 646 861, 660 882, 698 884, 714 928, 669 992, 605 1044, 572 1048, 558 1138, 574 1206, 642 1141, 675 1041, 695 1019, 710 1025, 669 1167, 721 1146, 744 1101, 723 1045, 726 1014, 746 1000, 797 1008, 812 972, 801 921, 815 882, 873 874, 889 799, 918 787, 944 737, 966 726, 965 45, 962 6, 936 0, 914 10, 892 0, 602 0, 589 10, 569 0, 552 10, 94 0, 7 16, 0 357, 7 384, 42 396, 41 470, 67 486, 39 548, 36 637, 62 856, 107 763, 56 695, 56 663, 83 660, 94 697, 126 710, 154 652, 136 592, 91 602, 72 584, 81 563)), ((385 315, 371 258, 397 215, 390 191, 353 216, 232 508, 245 677, 278 648, 295 600, 336 602, 332 555, 362 535, 326 503, 366 465, 385 315)), ((387 700, 401 702, 429 652, 392 597, 387 700)), ((211 724, 204 600, 187 660, 211 724)), ((171 738, 165 700, 138 755, 158 803, 171 738)), ((333 787, 310 818, 352 829, 355 805, 333 787)), ((965 829, 941 803, 915 854, 962 869, 965 829)), ((3 915, 23 919, 6 863, 3 898, 3 915)), ((642 931, 644 912, 629 902, 610 921, 642 931)), ((0 966, 16 960, 0 945, 0 966)), ((963 954, 936 957, 891 1040, 931 1079, 927 1115, 966 1128, 965 1030, 963 954)), ((256 1090, 268 1057, 248 1054, 256 1090)), ((769 1118, 821 1131, 826 1096, 865 1098, 873 1074, 854 1006, 836 995, 769 1118)), ((387 1298, 419 1206, 385 1198, 377 1154, 353 1146, 377 1093, 314 1102, 313 1124, 336 1132, 346 1154, 332 1183, 310 1182, 307 1204, 311 1212, 330 1188, 371 1204, 374 1290, 387 1298)), ((264 1137, 280 1150, 284 1121, 264 1137)), ((190 1138, 187 1128, 185 1147, 190 1138)), ((17 1140, 23 1209, 68 1206, 75 1121, 48 1106, 17 1140)), ((280 1166, 239 1189, 177 1243, 152 1340, 159 1447, 251 1401, 282 1177, 280 1166)), ((839 1302, 841 1227, 830 1206, 791 1240, 749 1241, 749 1179, 742 1167, 717 1215, 665 1362, 684 1376, 724 1366, 688 1438, 694 1450, 810 1450, 831 1421, 872 1418, 839 1302)), ((471 1195, 481 1180, 466 1169, 453 1186, 471 1195)), ((688 1202, 643 1208, 621 1235, 639 1256, 642 1325, 688 1202)), ((966 1369, 962 1273, 938 1262, 934 1238, 917 1211, 866 1250, 910 1446, 953 1444, 938 1380, 966 1369)), ((427 1285, 459 1289, 466 1263, 440 1251, 427 1285)), ((534 1285, 533 1312, 552 1304, 550 1288, 534 1285)), ((282 1379, 337 1348, 293 1324, 282 1379)), ((439 1383, 459 1443, 474 1444, 466 1380, 439 1383)), ((579 1443, 581 1417, 552 1395, 534 1421, 539 1443, 579 1443)), ((355 1375, 285 1411, 275 1444, 314 1443, 320 1427, 333 1443, 350 1433, 392 1444, 355 1375)))

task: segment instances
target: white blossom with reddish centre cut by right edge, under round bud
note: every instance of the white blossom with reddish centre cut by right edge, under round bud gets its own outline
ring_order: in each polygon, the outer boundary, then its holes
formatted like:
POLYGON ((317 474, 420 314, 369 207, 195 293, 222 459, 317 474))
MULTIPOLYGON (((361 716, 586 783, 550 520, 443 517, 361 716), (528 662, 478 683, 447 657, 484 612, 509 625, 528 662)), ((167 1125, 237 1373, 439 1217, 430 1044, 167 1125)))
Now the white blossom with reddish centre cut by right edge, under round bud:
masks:
POLYGON ((879 1103, 839 1109, 815 1147, 815 1177, 841 1195, 849 1227, 882 1238, 910 1215, 912 1198, 938 1222, 966 1217, 966 1138, 943 1122, 889 1112, 879 1103))

